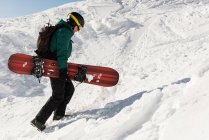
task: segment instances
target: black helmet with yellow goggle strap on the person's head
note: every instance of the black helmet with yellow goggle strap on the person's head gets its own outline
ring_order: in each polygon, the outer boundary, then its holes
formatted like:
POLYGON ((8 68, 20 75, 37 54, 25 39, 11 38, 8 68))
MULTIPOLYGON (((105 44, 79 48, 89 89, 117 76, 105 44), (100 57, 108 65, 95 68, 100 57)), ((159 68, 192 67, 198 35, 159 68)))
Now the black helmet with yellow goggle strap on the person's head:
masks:
POLYGON ((77 12, 72 12, 68 14, 69 20, 73 20, 77 26, 84 27, 84 18, 77 12))

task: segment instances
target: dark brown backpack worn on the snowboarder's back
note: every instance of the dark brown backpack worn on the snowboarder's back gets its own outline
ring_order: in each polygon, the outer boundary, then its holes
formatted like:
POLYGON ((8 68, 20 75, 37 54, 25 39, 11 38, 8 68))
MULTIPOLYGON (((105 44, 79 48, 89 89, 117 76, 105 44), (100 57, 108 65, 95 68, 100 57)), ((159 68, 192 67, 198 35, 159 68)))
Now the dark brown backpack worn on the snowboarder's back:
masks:
POLYGON ((39 32, 38 40, 37 40, 37 50, 35 50, 36 54, 41 58, 48 58, 50 42, 53 33, 58 29, 63 27, 62 25, 51 25, 48 23, 47 26, 41 28, 39 32))

